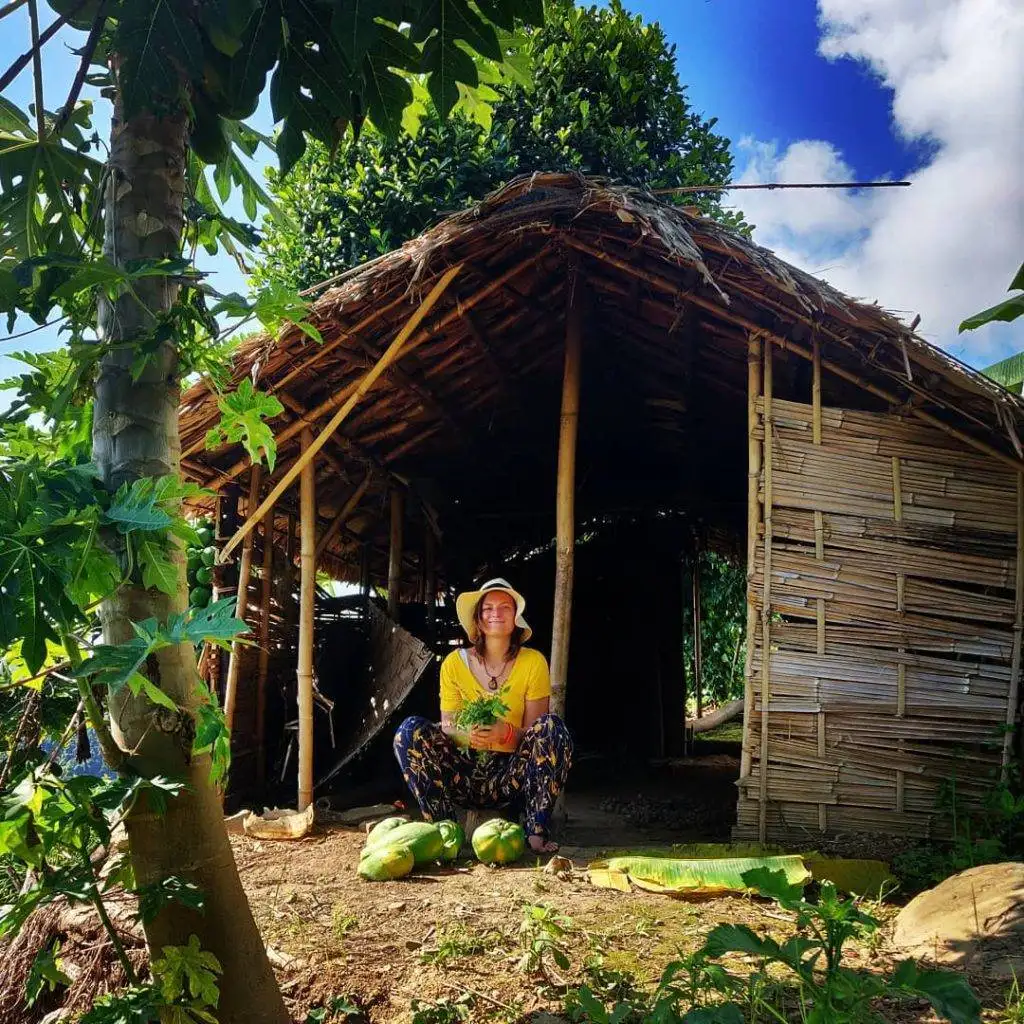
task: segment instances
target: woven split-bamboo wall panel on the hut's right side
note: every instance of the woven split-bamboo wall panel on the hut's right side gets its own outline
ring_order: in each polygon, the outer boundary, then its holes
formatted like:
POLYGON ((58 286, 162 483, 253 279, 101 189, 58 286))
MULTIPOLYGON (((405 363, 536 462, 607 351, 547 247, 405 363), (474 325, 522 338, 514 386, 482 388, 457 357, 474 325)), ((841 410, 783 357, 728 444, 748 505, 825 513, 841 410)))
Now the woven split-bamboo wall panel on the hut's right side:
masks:
POLYGON ((770 365, 755 372, 760 342, 751 351, 735 837, 936 835, 944 780, 976 804, 1009 752, 1018 475, 920 422, 822 409, 819 366, 814 402, 773 399, 770 365))

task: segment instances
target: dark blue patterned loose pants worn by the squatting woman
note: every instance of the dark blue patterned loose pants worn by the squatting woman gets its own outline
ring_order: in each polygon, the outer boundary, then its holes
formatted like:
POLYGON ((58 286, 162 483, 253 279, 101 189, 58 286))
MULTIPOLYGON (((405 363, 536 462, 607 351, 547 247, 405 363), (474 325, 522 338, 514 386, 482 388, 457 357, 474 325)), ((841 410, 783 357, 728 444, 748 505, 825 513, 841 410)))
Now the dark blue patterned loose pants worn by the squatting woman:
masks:
POLYGON ((414 716, 398 726, 394 756, 428 821, 454 818, 456 807, 513 808, 524 815, 527 836, 547 836, 572 763, 572 740, 557 715, 542 715, 512 754, 481 760, 436 722, 414 716))

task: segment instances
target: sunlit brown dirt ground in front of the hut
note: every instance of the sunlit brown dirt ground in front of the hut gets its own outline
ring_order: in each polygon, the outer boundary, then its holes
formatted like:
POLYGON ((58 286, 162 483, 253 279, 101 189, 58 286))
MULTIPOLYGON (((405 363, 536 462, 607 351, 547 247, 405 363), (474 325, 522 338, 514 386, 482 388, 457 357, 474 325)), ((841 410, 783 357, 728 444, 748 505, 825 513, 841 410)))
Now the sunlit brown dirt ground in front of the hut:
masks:
MULTIPOLYGON (((414 999, 465 998, 473 1021, 543 1020, 561 1006, 558 982, 580 984, 588 957, 641 979, 657 978, 680 950, 696 948, 721 922, 792 934, 776 904, 746 897, 703 901, 593 888, 580 858, 568 877, 539 859, 490 868, 472 861, 396 882, 355 874, 364 834, 321 830, 296 843, 233 838, 243 883, 297 1020, 332 995, 346 995, 372 1022, 410 1022, 414 999), (544 904, 570 919, 570 967, 546 982, 517 970, 523 910, 544 904), (551 982, 554 982, 552 984, 551 982)), ((895 907, 874 908, 884 919, 895 907)), ((888 930, 887 930, 888 932, 888 930)), ((886 933, 887 934, 887 933, 886 933)), ((853 945, 850 966, 884 970, 885 938, 853 945)), ((998 993, 983 993, 998 1005, 998 993)), ((893 1008, 894 1021, 928 1021, 923 1007, 893 1008)))

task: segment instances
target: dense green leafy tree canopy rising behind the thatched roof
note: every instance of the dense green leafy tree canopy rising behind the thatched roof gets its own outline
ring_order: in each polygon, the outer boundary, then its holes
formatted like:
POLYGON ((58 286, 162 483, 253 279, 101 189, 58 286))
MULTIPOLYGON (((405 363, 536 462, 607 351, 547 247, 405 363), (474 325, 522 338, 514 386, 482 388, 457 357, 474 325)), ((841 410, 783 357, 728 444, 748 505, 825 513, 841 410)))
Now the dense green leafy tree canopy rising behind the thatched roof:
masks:
MULTIPOLYGON (((271 171, 287 216, 264 222, 257 282, 317 284, 519 173, 575 170, 645 189, 729 182, 729 140, 691 109, 675 47, 621 0, 555 0, 525 34, 521 58, 530 73, 513 65, 487 86, 490 108, 444 120, 427 102, 415 136, 370 128, 333 148, 310 145, 288 175, 271 171)), ((714 193, 680 201, 742 225, 714 193)))

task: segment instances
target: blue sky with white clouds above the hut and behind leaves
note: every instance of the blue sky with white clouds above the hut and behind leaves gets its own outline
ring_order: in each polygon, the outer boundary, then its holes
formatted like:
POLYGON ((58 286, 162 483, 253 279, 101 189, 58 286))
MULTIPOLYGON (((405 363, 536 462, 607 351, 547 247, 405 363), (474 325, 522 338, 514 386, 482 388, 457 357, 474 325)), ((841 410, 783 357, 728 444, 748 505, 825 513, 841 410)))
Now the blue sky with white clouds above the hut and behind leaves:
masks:
MULTIPOLYGON (((1002 297, 1024 238, 1024 4, 1019 0, 633 0, 677 47, 690 100, 733 140, 740 180, 910 177, 883 193, 744 193, 756 238, 848 293, 877 299, 985 366, 1024 348, 959 319, 1002 297)), ((0 65, 26 48, 3 23, 0 65)), ((48 15, 44 17, 48 20, 48 15)), ((74 74, 74 40, 46 51, 47 105, 74 74)), ((9 90, 24 104, 24 73, 9 90)), ((261 126, 263 127, 263 126, 261 126)), ((101 129, 101 134, 103 129, 101 129)), ((216 284, 242 284, 217 261, 216 284)), ((6 348, 52 344, 41 332, 6 348)), ((0 376, 11 370, 0 356, 0 376)))

